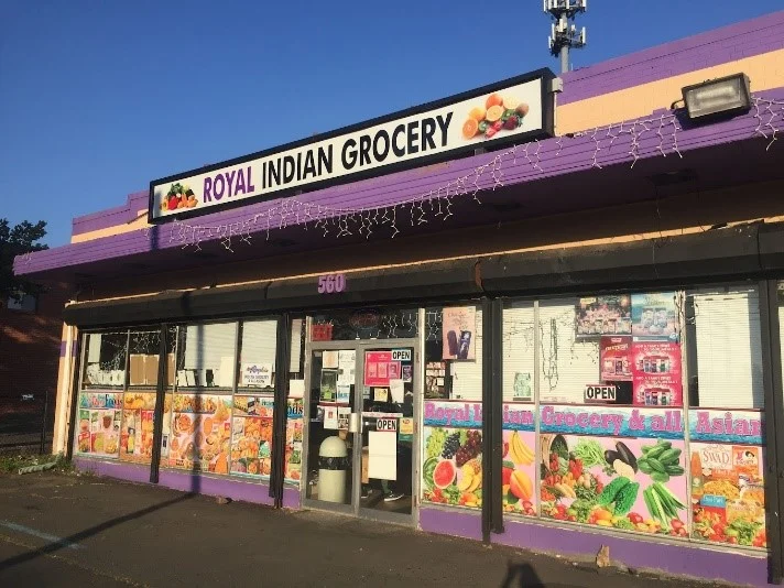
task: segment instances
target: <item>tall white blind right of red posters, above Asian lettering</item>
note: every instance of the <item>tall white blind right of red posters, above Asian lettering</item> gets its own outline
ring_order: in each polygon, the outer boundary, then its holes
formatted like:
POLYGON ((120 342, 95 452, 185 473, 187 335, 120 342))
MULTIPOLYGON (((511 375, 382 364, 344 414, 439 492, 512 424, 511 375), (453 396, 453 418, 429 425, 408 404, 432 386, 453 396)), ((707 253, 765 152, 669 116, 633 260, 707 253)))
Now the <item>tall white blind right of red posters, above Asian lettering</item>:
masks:
POLYGON ((756 291, 695 293, 699 405, 762 409, 762 340, 756 291))

